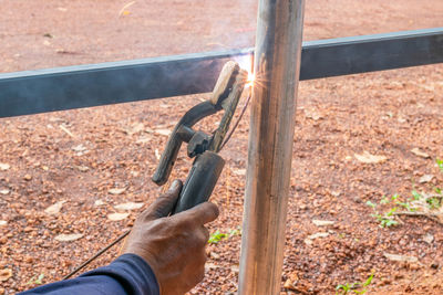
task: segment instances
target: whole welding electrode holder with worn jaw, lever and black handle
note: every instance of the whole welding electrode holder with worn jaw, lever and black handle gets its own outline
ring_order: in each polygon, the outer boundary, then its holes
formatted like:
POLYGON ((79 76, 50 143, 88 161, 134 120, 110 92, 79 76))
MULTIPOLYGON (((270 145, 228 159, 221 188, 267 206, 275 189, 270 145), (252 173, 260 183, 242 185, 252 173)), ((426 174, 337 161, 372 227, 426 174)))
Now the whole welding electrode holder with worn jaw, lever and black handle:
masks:
POLYGON ((217 152, 223 147, 225 135, 246 83, 247 72, 240 70, 237 63, 227 62, 220 72, 210 99, 186 112, 174 127, 152 178, 158 186, 166 183, 183 141, 188 144, 187 155, 190 158, 195 157, 195 160, 173 213, 187 210, 209 199, 225 165, 225 160, 217 152), (213 135, 193 129, 197 122, 222 109, 225 114, 213 135))

